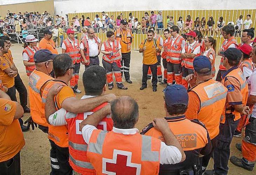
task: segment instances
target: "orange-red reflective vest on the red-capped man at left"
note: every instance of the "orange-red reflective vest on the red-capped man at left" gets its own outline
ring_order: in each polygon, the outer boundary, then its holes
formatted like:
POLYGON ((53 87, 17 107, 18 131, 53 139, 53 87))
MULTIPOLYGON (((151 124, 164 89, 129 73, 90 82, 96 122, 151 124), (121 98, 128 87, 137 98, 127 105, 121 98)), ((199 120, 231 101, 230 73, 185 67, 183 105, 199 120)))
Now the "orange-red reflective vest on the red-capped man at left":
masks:
POLYGON ((63 42, 66 45, 65 54, 68 54, 72 58, 73 64, 80 63, 81 62, 81 54, 80 54, 78 39, 73 38, 74 47, 71 44, 71 42, 69 41, 69 38, 67 38, 63 42))

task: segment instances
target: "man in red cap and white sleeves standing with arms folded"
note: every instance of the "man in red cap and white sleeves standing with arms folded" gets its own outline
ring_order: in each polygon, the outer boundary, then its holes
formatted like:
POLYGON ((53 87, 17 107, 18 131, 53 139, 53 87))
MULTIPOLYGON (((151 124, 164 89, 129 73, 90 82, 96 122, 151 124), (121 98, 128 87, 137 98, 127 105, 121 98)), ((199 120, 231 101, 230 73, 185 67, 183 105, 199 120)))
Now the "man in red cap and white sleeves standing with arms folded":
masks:
POLYGON ((181 84, 188 89, 188 82, 186 77, 194 73, 193 61, 196 56, 201 54, 201 46, 196 42, 196 33, 190 31, 185 34, 187 36, 188 43, 183 47, 181 51, 181 66, 182 66, 182 80, 181 84))

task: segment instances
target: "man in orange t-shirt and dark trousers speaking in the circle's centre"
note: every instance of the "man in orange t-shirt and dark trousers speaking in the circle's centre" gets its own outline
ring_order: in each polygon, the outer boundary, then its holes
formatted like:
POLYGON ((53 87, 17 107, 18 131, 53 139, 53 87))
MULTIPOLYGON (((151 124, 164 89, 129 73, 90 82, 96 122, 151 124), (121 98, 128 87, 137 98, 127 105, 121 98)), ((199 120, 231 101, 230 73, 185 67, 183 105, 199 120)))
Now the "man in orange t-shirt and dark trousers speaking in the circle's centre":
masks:
POLYGON ((140 44, 140 53, 143 53, 143 66, 142 66, 142 86, 140 90, 147 88, 147 75, 148 69, 151 69, 152 72, 152 86, 153 92, 156 92, 157 87, 157 53, 161 53, 160 42, 157 41, 154 37, 154 31, 148 30, 147 39, 144 40, 144 43, 140 44))

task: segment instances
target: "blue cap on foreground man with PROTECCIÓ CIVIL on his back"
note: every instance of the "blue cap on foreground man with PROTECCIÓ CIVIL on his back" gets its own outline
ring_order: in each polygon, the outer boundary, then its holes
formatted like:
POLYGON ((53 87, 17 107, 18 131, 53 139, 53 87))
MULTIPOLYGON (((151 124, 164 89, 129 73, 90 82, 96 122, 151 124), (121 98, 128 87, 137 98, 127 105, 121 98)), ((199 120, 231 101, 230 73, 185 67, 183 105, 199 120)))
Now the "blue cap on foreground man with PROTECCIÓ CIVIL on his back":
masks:
POLYGON ((181 84, 167 86, 164 92, 164 100, 167 106, 175 104, 188 104, 188 92, 181 84))

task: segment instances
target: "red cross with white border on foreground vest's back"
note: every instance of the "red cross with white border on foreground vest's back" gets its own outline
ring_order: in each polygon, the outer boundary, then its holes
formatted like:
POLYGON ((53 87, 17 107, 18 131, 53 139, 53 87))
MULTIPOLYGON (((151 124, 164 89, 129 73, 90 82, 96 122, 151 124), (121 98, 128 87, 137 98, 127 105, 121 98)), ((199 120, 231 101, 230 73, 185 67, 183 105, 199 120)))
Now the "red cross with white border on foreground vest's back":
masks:
POLYGON ((113 159, 102 158, 102 173, 140 175, 141 165, 132 163, 132 152, 114 149, 113 159))

